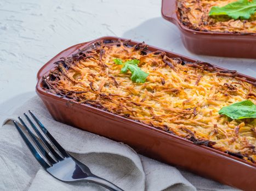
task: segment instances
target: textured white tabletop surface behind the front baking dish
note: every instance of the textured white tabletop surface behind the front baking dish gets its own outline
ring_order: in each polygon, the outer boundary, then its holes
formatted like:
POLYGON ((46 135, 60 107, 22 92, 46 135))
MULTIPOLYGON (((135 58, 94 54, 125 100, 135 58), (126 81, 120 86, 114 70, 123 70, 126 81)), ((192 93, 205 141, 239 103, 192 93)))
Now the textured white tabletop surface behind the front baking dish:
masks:
POLYGON ((71 45, 115 35, 256 77, 255 59, 194 55, 160 0, 0 0, 0 115, 35 94, 39 68, 71 45))

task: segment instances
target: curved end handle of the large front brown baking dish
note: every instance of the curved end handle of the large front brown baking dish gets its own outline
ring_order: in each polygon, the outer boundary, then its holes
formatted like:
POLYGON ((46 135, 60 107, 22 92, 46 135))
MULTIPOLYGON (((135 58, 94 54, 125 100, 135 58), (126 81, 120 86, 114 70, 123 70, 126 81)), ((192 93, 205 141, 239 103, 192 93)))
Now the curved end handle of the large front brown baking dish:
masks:
POLYGON ((90 42, 91 41, 71 46, 71 47, 65 49, 64 51, 60 52, 54 58, 50 59, 50 61, 48 61, 46 64, 43 65, 43 67, 41 69, 39 69, 39 71, 37 73, 37 81, 39 81, 39 79, 41 79, 41 77, 43 77, 46 73, 48 73, 49 70, 52 70, 55 67, 54 63, 56 61, 59 61, 60 58, 71 56, 72 53, 75 53, 78 49, 82 49, 84 46, 86 46, 90 42))

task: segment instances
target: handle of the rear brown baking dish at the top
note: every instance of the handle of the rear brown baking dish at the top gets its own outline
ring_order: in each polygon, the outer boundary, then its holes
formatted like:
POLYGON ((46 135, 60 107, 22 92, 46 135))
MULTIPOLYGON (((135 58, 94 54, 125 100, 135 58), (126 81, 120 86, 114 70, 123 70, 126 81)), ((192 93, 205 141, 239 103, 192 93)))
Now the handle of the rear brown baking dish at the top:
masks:
POLYGON ((162 0, 162 16, 164 19, 174 23, 178 23, 176 0, 162 0))

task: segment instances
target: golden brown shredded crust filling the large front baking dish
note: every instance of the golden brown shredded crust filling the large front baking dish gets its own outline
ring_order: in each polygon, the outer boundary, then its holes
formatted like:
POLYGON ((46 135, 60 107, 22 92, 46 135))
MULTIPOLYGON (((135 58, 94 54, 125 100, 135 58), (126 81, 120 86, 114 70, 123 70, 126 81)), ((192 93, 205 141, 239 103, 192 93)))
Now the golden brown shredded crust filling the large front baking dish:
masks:
POLYGON ((56 62, 58 69, 44 77, 48 91, 90 104, 237 157, 256 160, 256 119, 231 120, 223 107, 244 99, 256 103, 255 83, 221 71, 211 64, 186 63, 165 52, 147 51, 145 44, 129 46, 103 41, 56 62), (134 83, 123 62, 139 59, 149 73, 145 83, 134 83))

